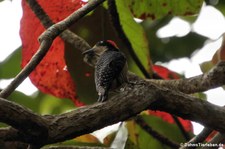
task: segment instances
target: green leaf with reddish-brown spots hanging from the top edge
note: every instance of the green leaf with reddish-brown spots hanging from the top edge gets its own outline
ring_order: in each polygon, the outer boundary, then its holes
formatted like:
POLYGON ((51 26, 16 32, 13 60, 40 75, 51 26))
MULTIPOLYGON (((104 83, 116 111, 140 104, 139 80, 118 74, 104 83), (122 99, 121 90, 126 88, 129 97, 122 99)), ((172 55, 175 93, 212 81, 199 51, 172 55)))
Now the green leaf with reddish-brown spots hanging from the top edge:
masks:
POLYGON ((203 0, 126 0, 126 3, 135 17, 155 20, 166 15, 194 15, 199 12, 203 0))

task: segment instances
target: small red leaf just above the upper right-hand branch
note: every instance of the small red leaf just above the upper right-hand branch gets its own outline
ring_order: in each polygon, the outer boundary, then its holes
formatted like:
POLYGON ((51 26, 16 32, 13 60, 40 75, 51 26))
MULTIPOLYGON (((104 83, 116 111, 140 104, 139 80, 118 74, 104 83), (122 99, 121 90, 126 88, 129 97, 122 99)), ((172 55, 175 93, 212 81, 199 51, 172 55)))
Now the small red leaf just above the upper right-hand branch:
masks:
POLYGON ((163 66, 153 65, 153 70, 154 70, 154 72, 156 72, 160 77, 162 77, 165 80, 180 78, 180 76, 176 72, 173 72, 163 66))

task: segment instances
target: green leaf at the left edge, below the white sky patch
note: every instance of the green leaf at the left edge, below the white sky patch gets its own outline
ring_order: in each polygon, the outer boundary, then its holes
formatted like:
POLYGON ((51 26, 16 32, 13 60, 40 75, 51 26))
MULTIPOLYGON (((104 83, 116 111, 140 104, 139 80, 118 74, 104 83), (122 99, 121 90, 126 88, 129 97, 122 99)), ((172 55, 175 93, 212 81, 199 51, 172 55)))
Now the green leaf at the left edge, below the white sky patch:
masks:
POLYGON ((0 63, 0 79, 15 77, 21 70, 21 47, 17 48, 6 60, 0 63))

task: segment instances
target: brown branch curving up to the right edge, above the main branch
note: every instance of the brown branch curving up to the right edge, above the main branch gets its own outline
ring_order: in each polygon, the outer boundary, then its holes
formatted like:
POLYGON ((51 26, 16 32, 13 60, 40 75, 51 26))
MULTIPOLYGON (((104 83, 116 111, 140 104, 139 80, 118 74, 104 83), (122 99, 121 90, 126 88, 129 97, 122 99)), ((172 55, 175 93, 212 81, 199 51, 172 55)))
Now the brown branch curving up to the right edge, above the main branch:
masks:
POLYGON ((148 80, 160 86, 183 93, 203 92, 225 84, 225 61, 219 62, 213 69, 203 75, 178 80, 148 80))

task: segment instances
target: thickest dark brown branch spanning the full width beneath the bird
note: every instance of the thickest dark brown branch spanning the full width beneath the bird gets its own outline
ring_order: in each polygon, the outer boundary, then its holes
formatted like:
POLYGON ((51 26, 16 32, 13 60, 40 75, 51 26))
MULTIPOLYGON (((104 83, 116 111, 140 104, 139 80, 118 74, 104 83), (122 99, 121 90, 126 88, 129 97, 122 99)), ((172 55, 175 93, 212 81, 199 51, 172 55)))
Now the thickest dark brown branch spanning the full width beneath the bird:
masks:
MULTIPOLYGON (((127 85, 123 92, 118 93, 107 102, 81 107, 60 115, 44 116, 42 118, 41 116, 34 115, 25 108, 18 107, 18 105, 12 102, 1 99, 0 103, 2 108, 0 108, 0 117, 4 117, 1 121, 5 123, 10 122, 9 124, 14 124, 14 127, 24 131, 24 128, 20 128, 21 126, 18 127, 15 124, 27 126, 28 123, 29 129, 29 127, 31 127, 31 122, 29 122, 29 120, 27 122, 26 119, 32 119, 34 122, 39 122, 38 119, 42 119, 44 122, 40 122, 43 123, 44 126, 46 124, 48 128, 48 131, 46 131, 48 132, 47 139, 39 133, 39 140, 43 145, 91 133, 102 127, 124 121, 148 108, 176 114, 182 118, 199 122, 222 133, 225 132, 225 128, 223 127, 225 125, 225 109, 223 107, 213 105, 207 101, 181 92, 156 86, 154 83, 145 80, 140 79, 136 82, 136 85, 127 85), (15 111, 13 114, 9 112, 6 117, 3 113, 8 113, 7 109, 9 107, 15 111), (16 115, 16 113, 20 113, 20 119, 17 119, 18 114, 16 115)), ((31 129, 39 130, 40 128, 35 127, 31 129)), ((32 138, 32 136, 30 137, 32 138)), ((23 141, 30 144, 37 143, 35 139, 23 141)))

